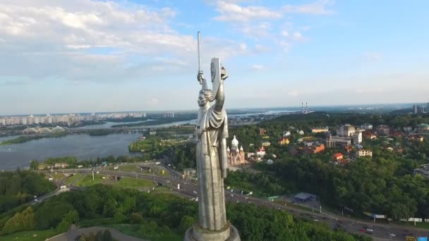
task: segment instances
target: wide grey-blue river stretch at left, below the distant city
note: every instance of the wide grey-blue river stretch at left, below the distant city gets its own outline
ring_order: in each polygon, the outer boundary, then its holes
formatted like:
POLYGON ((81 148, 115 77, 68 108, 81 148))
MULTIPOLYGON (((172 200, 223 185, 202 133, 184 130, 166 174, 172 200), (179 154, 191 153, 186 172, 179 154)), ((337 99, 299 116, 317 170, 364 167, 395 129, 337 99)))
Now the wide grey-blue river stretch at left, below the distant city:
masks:
MULTIPOLYGON (((80 160, 106 156, 131 155, 128 144, 138 140, 135 135, 67 135, 44 138, 0 147, 0 171, 30 166, 32 159, 44 161, 49 157, 76 156, 80 160)), ((0 137, 0 141, 16 137, 0 137)))

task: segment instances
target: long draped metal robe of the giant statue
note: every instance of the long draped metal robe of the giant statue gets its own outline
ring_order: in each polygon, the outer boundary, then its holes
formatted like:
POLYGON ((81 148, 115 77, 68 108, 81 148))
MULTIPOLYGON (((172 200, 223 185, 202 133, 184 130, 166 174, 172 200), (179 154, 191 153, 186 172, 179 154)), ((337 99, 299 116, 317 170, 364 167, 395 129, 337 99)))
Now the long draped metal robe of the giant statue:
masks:
MULTIPOLYGON (((222 139, 228 137, 226 111, 200 108, 196 127, 198 207, 200 227, 221 230, 226 225, 224 179, 222 175, 222 139)), ((225 160, 226 162, 226 160, 225 160)))

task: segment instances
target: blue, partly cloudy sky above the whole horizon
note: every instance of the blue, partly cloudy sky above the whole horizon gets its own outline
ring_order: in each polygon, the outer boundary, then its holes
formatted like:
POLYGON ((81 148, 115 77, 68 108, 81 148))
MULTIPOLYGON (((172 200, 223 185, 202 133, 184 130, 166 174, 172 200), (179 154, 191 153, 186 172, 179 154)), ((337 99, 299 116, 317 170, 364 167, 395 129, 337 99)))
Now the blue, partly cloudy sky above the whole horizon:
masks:
POLYGON ((1 0, 0 115, 429 101, 429 1, 1 0), (208 74, 207 74, 208 73, 208 74))

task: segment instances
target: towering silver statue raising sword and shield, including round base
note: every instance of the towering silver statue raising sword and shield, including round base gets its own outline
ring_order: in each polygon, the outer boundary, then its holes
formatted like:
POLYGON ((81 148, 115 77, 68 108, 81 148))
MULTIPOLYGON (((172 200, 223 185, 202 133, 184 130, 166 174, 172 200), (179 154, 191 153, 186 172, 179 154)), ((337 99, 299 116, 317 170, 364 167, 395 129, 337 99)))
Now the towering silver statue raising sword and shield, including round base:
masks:
MULTIPOLYGON (((198 33, 198 57, 200 44, 198 33)), ((237 241, 238 231, 226 221, 224 178, 226 178, 226 138, 228 119, 224 109, 224 81, 228 74, 219 58, 212 58, 210 66, 212 89, 207 87, 203 71, 198 68, 197 175, 199 222, 186 231, 185 240, 237 241), (214 105, 212 102, 214 101, 214 105)))

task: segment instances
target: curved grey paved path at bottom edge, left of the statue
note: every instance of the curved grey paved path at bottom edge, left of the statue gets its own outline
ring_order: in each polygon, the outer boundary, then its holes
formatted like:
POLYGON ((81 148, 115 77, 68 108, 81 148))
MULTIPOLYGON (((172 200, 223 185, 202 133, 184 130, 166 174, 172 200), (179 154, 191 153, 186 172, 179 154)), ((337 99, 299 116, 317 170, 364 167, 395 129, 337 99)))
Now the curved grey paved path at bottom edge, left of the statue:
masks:
POLYGON ((47 240, 49 241, 74 241, 75 237, 78 235, 82 235, 83 233, 89 234, 89 233, 97 233, 99 230, 109 230, 111 233, 111 236, 116 238, 116 240, 121 241, 147 241, 142 240, 138 237, 131 237, 129 235, 126 235, 125 233, 121 233, 118 230, 114 228, 106 228, 106 227, 91 227, 91 228, 80 228, 77 230, 70 230, 67 233, 61 233, 60 235, 56 235, 54 237, 51 237, 47 240))

